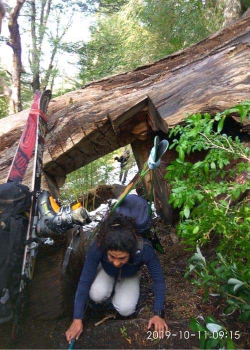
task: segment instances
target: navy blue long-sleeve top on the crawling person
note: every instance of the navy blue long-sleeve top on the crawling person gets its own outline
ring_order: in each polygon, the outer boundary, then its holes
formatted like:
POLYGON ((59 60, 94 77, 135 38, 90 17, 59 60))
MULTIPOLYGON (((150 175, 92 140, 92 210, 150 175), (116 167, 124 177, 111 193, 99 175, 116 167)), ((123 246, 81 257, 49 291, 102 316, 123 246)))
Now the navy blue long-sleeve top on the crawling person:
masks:
MULTIPOLYGON (((146 239, 144 239, 144 241, 146 241, 146 239)), ((120 268, 115 267, 109 262, 107 259, 107 252, 103 248, 97 246, 96 242, 94 242, 88 251, 81 271, 74 299, 73 318, 83 318, 83 311, 88 292, 96 275, 99 262, 101 262, 101 265, 107 274, 116 277, 119 273, 120 268)), ((135 274, 144 263, 148 268, 154 284, 153 309, 154 311, 158 311, 163 309, 164 306, 165 279, 159 260, 150 244, 144 243, 143 248, 137 250, 135 255, 130 257, 129 261, 121 266, 121 277, 128 277, 135 274)))

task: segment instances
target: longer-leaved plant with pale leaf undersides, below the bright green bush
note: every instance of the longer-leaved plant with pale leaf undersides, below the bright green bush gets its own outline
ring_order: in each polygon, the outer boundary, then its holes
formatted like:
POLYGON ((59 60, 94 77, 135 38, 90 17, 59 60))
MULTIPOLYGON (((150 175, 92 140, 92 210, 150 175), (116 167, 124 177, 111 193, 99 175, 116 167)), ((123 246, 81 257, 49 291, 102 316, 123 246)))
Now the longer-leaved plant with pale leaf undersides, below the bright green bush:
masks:
POLYGON ((225 314, 238 311, 238 319, 250 320, 250 268, 237 262, 228 261, 220 253, 212 261, 202 255, 199 247, 189 258, 185 277, 192 275, 195 289, 202 288, 204 301, 208 296, 225 299, 225 314))

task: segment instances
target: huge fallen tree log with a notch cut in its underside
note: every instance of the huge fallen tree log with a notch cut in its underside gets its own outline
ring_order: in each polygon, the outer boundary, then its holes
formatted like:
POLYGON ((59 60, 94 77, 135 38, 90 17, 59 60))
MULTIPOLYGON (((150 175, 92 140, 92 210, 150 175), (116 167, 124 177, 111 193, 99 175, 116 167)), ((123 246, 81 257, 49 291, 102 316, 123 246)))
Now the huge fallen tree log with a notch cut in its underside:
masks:
MULTIPOLYGON (((43 157, 51 183, 135 140, 181 123, 186 112, 221 111, 249 98, 250 17, 152 64, 93 81, 50 101, 43 157)), ((27 110, 1 119, 0 183, 27 110)), ((29 182, 31 168, 27 171, 29 182)))

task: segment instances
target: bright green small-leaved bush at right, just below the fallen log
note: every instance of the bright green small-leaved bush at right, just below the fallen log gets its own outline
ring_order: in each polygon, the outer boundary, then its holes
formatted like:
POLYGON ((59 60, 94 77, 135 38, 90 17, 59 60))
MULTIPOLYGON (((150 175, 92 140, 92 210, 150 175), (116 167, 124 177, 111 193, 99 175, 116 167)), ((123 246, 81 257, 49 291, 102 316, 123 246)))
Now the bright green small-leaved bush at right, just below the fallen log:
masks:
POLYGON ((185 119, 185 126, 177 125, 169 133, 169 136, 179 135, 169 147, 175 147, 178 152, 178 158, 167 167, 165 175, 172 187, 169 203, 181 209, 177 229, 190 246, 195 246, 197 241, 201 244, 207 242, 212 233, 223 237, 219 251, 226 251, 230 243, 230 254, 242 258, 246 254, 249 208, 244 201, 230 204, 249 186, 249 183, 233 181, 232 176, 249 171, 249 165, 244 161, 230 169, 226 165, 240 158, 249 161, 249 148, 237 136, 232 139, 219 131, 220 121, 224 121, 226 115, 237 111, 243 120, 249 109, 249 102, 242 102, 214 117, 208 113, 192 114, 185 119), (213 131, 214 127, 217 131, 213 131), (185 161, 185 155, 197 150, 207 152, 203 160, 194 164, 185 161))

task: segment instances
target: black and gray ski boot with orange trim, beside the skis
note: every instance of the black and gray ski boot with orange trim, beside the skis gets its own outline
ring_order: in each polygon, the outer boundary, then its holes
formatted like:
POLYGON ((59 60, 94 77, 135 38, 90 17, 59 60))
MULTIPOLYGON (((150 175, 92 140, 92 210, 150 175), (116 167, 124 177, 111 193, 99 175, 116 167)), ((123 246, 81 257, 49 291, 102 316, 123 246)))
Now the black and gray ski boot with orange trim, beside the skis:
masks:
POLYGON ((38 236, 60 234, 72 228, 73 225, 83 225, 91 221, 88 211, 81 203, 59 206, 45 190, 39 195, 37 209, 36 231, 38 236))

